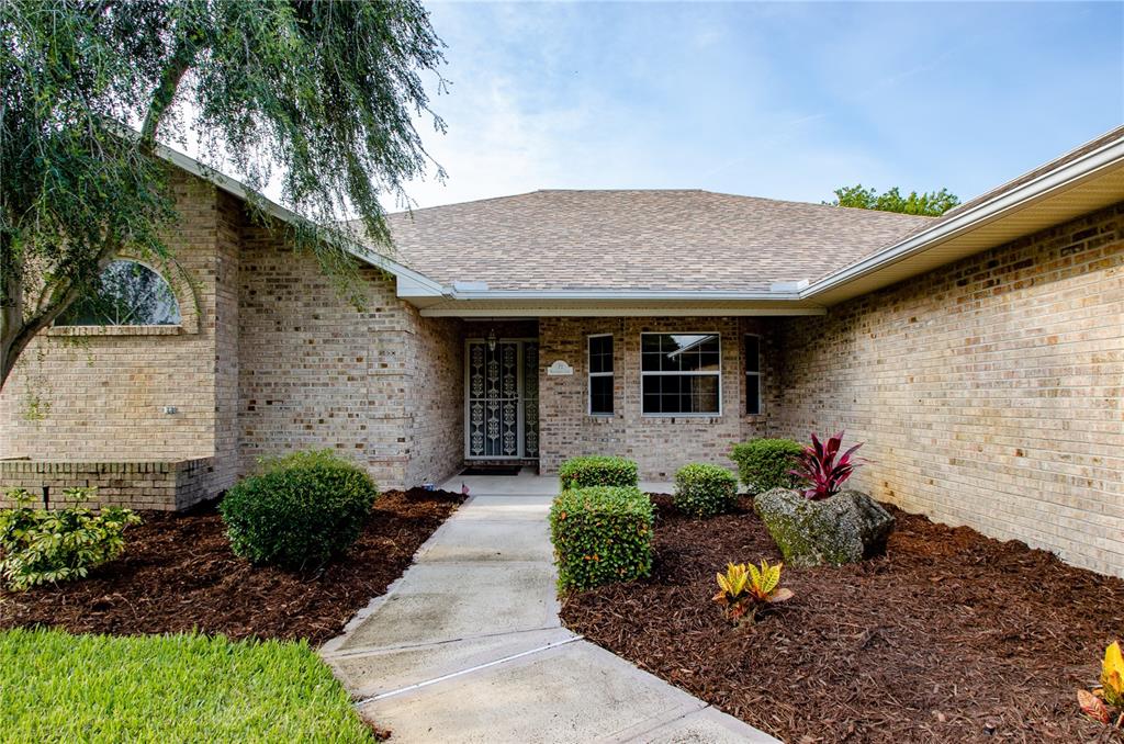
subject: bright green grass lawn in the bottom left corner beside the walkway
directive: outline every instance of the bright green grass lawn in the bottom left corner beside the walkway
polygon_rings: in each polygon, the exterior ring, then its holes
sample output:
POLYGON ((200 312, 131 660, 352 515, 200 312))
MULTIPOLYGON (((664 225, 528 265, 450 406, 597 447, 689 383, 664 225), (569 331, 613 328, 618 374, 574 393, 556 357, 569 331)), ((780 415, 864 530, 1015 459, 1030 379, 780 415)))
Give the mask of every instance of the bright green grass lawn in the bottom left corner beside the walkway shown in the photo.
POLYGON ((374 742, 307 643, 0 633, 0 740, 374 742))

